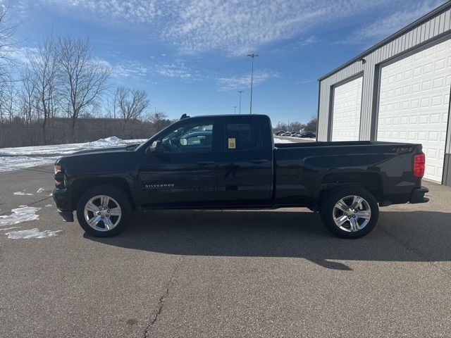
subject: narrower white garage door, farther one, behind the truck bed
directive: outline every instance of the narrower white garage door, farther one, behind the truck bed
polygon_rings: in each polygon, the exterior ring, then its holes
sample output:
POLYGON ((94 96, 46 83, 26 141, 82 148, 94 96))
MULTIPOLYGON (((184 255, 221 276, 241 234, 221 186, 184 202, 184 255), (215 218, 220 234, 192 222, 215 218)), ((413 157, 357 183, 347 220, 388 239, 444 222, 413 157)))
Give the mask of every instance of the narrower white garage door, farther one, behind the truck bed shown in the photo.
POLYGON ((332 141, 358 141, 363 77, 333 91, 332 141))

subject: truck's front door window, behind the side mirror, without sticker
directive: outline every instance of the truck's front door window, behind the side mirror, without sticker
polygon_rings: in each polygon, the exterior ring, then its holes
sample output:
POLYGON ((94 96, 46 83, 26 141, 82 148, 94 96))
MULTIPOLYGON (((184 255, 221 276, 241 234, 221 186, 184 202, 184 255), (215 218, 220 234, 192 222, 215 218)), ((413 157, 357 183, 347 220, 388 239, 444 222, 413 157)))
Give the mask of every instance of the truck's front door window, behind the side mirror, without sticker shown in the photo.
POLYGON ((190 123, 169 132, 161 140, 170 153, 206 153, 213 149, 213 124, 190 123))

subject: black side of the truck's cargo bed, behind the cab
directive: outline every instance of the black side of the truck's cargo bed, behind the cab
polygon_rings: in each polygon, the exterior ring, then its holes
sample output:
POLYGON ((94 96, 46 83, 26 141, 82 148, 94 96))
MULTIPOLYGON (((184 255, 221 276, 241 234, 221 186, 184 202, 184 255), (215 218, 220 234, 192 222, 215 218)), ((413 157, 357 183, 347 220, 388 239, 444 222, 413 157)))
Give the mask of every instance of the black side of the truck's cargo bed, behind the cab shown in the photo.
POLYGON ((396 142, 306 142, 275 144, 276 202, 318 199, 324 184, 371 182, 379 202, 406 203, 421 180, 412 173, 421 144, 396 142))

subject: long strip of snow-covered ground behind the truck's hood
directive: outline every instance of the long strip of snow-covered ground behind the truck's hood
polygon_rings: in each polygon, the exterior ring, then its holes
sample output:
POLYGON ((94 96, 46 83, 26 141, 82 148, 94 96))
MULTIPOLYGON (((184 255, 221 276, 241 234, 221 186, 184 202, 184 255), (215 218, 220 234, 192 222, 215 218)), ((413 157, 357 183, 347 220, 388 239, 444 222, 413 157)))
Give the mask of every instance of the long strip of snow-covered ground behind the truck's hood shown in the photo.
POLYGON ((37 165, 53 164, 58 158, 75 151, 126 146, 143 143, 146 139, 120 139, 116 136, 86 143, 51 144, 49 146, 20 146, 0 149, 0 172, 12 171, 37 165))

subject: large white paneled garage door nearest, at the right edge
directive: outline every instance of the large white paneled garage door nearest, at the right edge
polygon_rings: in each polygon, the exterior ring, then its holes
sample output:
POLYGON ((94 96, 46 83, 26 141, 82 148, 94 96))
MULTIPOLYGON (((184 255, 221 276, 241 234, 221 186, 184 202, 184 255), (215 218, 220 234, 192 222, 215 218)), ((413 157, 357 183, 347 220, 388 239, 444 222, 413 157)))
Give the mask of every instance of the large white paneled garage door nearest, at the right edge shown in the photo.
POLYGON ((425 178, 442 182, 450 102, 451 40, 382 68, 378 141, 416 142, 425 178))

